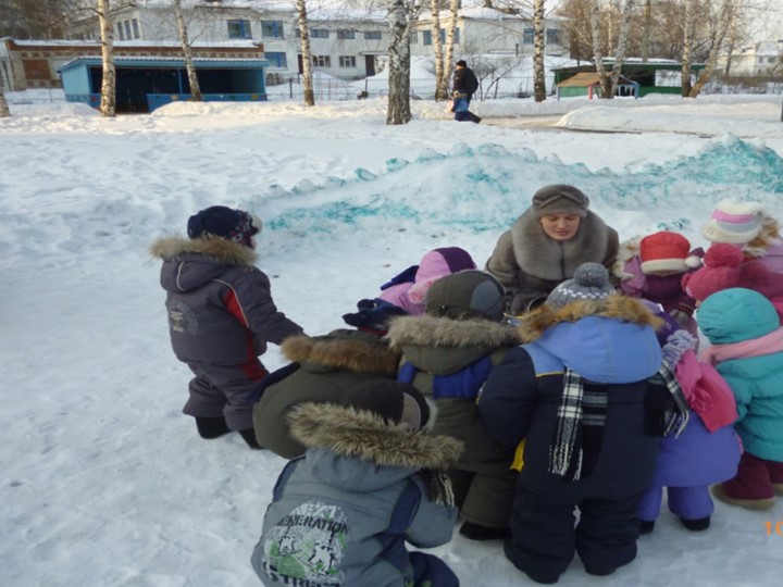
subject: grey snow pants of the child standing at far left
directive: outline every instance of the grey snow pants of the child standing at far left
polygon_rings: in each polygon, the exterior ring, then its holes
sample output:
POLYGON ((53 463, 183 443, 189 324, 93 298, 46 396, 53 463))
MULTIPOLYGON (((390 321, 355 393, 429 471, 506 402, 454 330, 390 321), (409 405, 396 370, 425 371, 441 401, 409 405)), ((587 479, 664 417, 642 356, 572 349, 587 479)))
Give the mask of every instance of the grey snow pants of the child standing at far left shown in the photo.
POLYGON ((252 428, 252 409, 259 400, 258 383, 266 376, 260 361, 244 365, 188 363, 196 375, 183 412, 194 417, 221 417, 232 430, 252 428))

